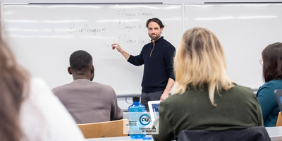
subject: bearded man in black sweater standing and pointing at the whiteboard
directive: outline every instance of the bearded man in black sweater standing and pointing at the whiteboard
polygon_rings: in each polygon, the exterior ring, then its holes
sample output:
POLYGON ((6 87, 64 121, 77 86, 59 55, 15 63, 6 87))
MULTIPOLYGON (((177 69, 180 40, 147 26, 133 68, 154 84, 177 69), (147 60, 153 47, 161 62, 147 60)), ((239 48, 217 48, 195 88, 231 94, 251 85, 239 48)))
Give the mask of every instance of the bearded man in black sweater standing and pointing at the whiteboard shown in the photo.
POLYGON ((121 49, 119 44, 112 44, 112 46, 133 65, 141 66, 144 64, 141 104, 149 111, 147 102, 166 99, 171 87, 173 87, 175 80, 173 58, 176 49, 164 37, 161 37, 161 32, 164 29, 161 20, 158 18, 149 19, 146 27, 152 42, 146 44, 139 55, 128 54, 121 49))

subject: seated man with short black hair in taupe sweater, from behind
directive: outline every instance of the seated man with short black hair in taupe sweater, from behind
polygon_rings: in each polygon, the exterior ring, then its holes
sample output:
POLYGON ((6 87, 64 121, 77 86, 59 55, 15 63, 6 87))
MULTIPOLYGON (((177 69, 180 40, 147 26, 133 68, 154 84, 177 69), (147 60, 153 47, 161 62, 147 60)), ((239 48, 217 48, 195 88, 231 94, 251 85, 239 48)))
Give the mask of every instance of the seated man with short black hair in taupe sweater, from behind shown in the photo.
POLYGON ((97 123, 123 118, 114 89, 109 85, 92 82, 94 66, 90 54, 82 50, 73 52, 68 73, 73 75, 73 82, 56 87, 53 92, 76 123, 97 123))

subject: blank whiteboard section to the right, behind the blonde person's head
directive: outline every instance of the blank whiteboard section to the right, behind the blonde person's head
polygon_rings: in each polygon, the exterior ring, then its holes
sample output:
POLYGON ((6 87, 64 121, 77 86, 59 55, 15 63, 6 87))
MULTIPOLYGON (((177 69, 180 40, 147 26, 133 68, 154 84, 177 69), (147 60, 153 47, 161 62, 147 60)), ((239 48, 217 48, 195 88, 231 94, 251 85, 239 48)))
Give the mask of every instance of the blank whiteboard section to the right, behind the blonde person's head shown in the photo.
POLYGON ((281 4, 187 4, 185 29, 205 27, 223 45, 228 76, 238 85, 263 85, 262 50, 282 42, 281 4))

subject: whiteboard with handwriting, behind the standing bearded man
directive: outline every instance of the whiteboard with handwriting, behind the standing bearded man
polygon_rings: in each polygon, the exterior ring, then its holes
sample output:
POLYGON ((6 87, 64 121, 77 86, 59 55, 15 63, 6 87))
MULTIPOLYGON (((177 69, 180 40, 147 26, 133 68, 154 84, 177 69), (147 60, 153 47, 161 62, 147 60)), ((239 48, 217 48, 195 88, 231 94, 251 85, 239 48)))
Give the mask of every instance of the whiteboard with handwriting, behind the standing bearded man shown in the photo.
POLYGON ((118 95, 140 94, 143 67, 109 45, 140 54, 150 42, 145 23, 155 17, 165 25, 162 36, 177 48, 183 33, 180 4, 5 4, 5 39, 20 64, 51 88, 73 81, 68 59, 82 49, 93 57, 93 81, 111 85, 118 95))

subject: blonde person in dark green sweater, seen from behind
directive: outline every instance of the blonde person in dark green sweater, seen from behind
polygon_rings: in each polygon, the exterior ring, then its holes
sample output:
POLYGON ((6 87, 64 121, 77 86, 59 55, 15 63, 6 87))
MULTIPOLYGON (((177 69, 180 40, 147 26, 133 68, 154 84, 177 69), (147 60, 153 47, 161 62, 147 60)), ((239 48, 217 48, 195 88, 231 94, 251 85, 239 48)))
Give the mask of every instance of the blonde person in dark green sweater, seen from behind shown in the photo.
POLYGON ((223 47, 213 32, 186 31, 174 64, 173 95, 159 105, 155 141, 177 140, 181 130, 227 130, 263 125, 259 102, 248 87, 226 75, 223 47))

